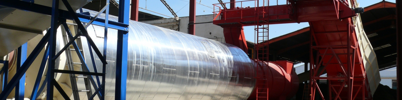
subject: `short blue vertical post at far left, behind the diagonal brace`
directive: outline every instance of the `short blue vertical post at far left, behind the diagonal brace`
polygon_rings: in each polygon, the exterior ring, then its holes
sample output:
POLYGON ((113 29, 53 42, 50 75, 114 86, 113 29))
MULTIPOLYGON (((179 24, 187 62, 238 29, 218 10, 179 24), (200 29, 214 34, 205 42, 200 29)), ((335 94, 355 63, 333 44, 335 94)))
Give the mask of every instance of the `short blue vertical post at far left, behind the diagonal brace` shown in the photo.
MULTIPOLYGON (((18 47, 17 50, 17 68, 19 70, 21 65, 27 60, 27 46, 28 43, 25 43, 18 47)), ((18 85, 15 86, 15 100, 24 100, 25 93, 25 73, 16 73, 16 74, 24 74, 23 77, 17 82, 18 85)))

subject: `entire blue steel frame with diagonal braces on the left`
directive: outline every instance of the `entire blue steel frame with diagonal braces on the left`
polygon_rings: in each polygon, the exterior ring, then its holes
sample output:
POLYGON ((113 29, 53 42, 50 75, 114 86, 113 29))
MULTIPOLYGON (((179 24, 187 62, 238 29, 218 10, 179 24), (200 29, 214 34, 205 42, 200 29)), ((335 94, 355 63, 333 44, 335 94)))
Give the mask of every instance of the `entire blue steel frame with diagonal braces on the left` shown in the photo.
MULTIPOLYGON (((109 0, 107 0, 107 1, 109 1, 109 0)), ((94 89, 96 90, 94 92, 94 95, 98 94, 99 98, 101 100, 104 100, 105 96, 103 94, 105 94, 105 72, 106 72, 106 64, 107 64, 105 52, 107 51, 106 48, 107 48, 108 28, 113 28, 113 29, 118 30, 117 55, 116 55, 117 56, 116 84, 121 84, 121 85, 116 85, 115 96, 116 96, 116 100, 125 100, 126 99, 126 97, 125 97, 126 96, 126 78, 127 78, 127 44, 128 44, 128 34, 127 33, 128 33, 128 24, 129 24, 129 12, 128 12, 129 11, 129 0, 120 0, 120 2, 119 2, 119 5, 120 5, 119 21, 118 22, 113 22, 113 21, 108 20, 109 8, 106 9, 106 18, 105 19, 96 18, 94 20, 94 22, 92 22, 92 24, 94 24, 94 25, 106 27, 105 28, 105 41, 104 41, 104 48, 103 48, 104 55, 100 54, 98 48, 96 47, 96 45, 94 44, 94 42, 92 41, 92 39, 90 38, 88 33, 86 32, 86 29, 84 28, 84 26, 81 23, 81 22, 88 23, 91 20, 91 18, 93 18, 93 17, 82 14, 82 13, 76 13, 75 11, 72 10, 72 8, 67 0, 62 0, 62 2, 64 3, 64 5, 66 5, 66 8, 68 9, 68 11, 57 9, 59 7, 59 0, 53 0, 52 7, 43 6, 43 5, 39 5, 39 4, 33 4, 30 2, 25 2, 25 1, 20 1, 20 0, 0 0, 0 6, 6 6, 6 7, 29 11, 29 12, 36 12, 39 14, 51 15, 50 30, 47 31, 47 34, 45 34, 45 36, 43 36, 43 38, 39 41, 38 45, 33 49, 33 52, 28 57, 26 57, 26 55, 27 55, 26 54, 26 51, 27 51, 26 44, 25 44, 25 48, 24 48, 24 46, 22 46, 22 48, 18 50, 18 51, 23 51, 23 52, 18 52, 18 53, 22 53, 23 55, 25 53, 25 57, 18 56, 18 60, 21 61, 21 63, 18 63, 18 65, 20 65, 21 67, 18 68, 18 70, 16 72, 17 74, 15 74, 12 77, 12 79, 10 80, 10 82, 8 82, 8 84, 7 84, 7 82, 3 81, 4 82, 2 84, 3 90, 0 94, 0 100, 6 100, 6 97, 8 96, 8 94, 10 94, 11 90, 14 87, 20 86, 20 88, 21 88, 21 83, 23 84, 23 86, 25 86, 25 77, 24 77, 25 72, 28 70, 29 66, 31 66, 31 64, 33 63, 35 58, 37 58, 37 56, 39 55, 41 50, 44 48, 46 43, 48 44, 45 49, 46 53, 43 55, 41 66, 39 67, 37 79, 34 84, 33 92, 31 94, 31 100, 36 99, 39 96, 38 92, 41 92, 43 90, 45 84, 48 84, 47 85, 47 90, 48 90, 47 98, 53 98, 53 86, 55 86, 56 89, 60 92, 60 94, 62 94, 62 96, 66 100, 70 100, 69 97, 64 92, 64 90, 62 90, 60 88, 59 84, 54 79, 55 73, 82 74, 82 75, 90 76, 89 78, 91 80, 91 83, 93 84, 92 86, 94 86, 94 89), (68 37, 70 38, 70 42, 67 45, 73 44, 74 48, 76 48, 76 52, 79 55, 81 62, 83 63, 83 67, 84 67, 83 71, 84 72, 54 69, 55 68, 55 59, 60 55, 61 52, 63 52, 66 49, 66 48, 64 48, 60 52, 58 52, 58 54, 56 54, 56 51, 55 51, 56 46, 55 45, 56 45, 57 28, 61 24, 63 24, 63 26, 66 27, 67 26, 65 23, 66 19, 75 20, 78 24, 79 31, 78 31, 78 34, 76 34, 76 36, 72 37, 71 33, 69 32, 70 30, 67 30, 68 37), (92 47, 94 49, 95 53, 97 54, 97 56, 99 56, 99 59, 103 63, 103 70, 102 70, 103 73, 98 73, 97 70, 95 70, 95 72, 89 72, 88 66, 86 66, 86 63, 83 60, 82 54, 81 54, 81 52, 79 52, 80 50, 78 49, 78 46, 74 42, 74 40, 76 38, 78 38, 78 36, 81 36, 81 35, 86 36, 86 38, 88 40, 88 46, 90 48, 92 47), (49 59, 47 59, 47 58, 49 58, 49 59), (47 60, 48 60, 48 66, 49 66, 48 71, 47 71, 47 76, 45 78, 45 81, 42 83, 42 86, 39 86, 40 80, 42 78, 41 76, 43 76, 42 73, 44 71, 45 63, 47 60), (96 85, 92 76, 96 76, 98 85, 96 85), (102 84, 100 84, 98 76, 102 76, 102 84), (17 86, 16 83, 18 83, 18 81, 19 81, 19 85, 17 86)), ((66 28, 66 29, 68 29, 68 28, 66 28)), ((90 53, 92 55, 92 49, 90 50, 90 53)), ((94 57, 91 56, 91 59, 94 60, 94 57)), ((6 63, 7 61, 3 61, 3 62, 6 63)), ((92 63, 94 63, 94 61, 92 61, 92 63)), ((7 64, 8 64, 8 62, 7 62, 7 64)), ((94 69, 96 69, 96 65, 94 65, 94 69)), ((3 80, 7 80, 8 65, 5 66, 1 70, 1 72, 4 72, 3 80)), ((20 93, 18 96, 18 97, 20 97, 19 99, 23 99, 24 98, 23 93, 24 93, 25 89, 17 89, 17 90, 18 90, 18 93, 20 93)), ((17 94, 17 92, 16 92, 16 94, 17 94)), ((90 97, 88 99, 92 100, 94 98, 94 95, 92 95, 92 97, 90 97)))

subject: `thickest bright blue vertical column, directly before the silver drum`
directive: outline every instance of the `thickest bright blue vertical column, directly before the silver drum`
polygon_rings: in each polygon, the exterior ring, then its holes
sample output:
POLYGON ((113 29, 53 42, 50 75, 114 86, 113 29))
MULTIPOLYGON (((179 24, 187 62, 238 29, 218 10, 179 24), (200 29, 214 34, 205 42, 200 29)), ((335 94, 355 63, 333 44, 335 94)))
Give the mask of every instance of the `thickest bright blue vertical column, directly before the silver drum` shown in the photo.
MULTIPOLYGON (((119 22, 129 24, 130 0, 119 2, 119 22)), ((128 30, 128 27, 125 29, 128 30)), ((117 33, 116 95, 115 100, 126 100, 128 32, 117 33)))

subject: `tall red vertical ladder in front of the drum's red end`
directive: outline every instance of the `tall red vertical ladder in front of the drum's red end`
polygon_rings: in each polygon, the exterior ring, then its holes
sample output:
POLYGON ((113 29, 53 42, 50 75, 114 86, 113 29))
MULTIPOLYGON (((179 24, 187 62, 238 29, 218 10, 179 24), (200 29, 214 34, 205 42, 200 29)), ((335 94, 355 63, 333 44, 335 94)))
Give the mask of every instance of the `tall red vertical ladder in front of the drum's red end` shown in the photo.
MULTIPOLYGON (((258 0, 257 0, 258 2, 258 0)), ((263 20, 260 22, 260 19, 268 17, 268 6, 269 3, 263 1, 263 9, 262 11, 259 11, 258 9, 256 10, 256 27, 255 27, 255 45, 254 45, 254 50, 256 52, 256 100, 268 100, 268 93, 269 93, 269 88, 268 88, 268 79, 267 79, 267 74, 268 74, 268 61, 269 61, 269 54, 268 54, 268 40, 269 40, 269 23, 268 20, 263 20), (265 4, 267 3, 267 5, 265 4), (267 42, 266 44, 260 44, 263 42, 267 42)), ((257 4, 259 5, 259 4, 257 4)))

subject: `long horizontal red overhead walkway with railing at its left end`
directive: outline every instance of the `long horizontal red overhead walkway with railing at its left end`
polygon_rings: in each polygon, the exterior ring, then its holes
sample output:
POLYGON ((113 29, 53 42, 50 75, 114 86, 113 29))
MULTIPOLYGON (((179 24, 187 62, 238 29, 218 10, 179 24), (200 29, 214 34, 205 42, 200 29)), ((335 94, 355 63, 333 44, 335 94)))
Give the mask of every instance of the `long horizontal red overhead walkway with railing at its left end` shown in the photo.
MULTIPOLYGON (((242 4, 242 2, 249 1, 241 1, 237 3, 242 4)), ((214 6, 217 5, 220 4, 214 4, 214 6)), ((351 8, 340 3, 338 0, 300 0, 300 2, 297 3, 291 2, 290 0, 285 5, 268 7, 269 14, 264 16, 259 15, 258 17, 260 17, 259 21, 269 20, 269 24, 338 20, 355 16, 354 11, 351 10, 351 8)), ((264 9, 264 7, 236 7, 216 11, 213 13, 216 15, 220 12, 221 16, 216 16, 220 18, 213 20, 213 24, 218 26, 255 26, 256 22, 254 17, 256 16, 256 10, 262 11, 261 9, 264 9)), ((260 22, 260 24, 263 23, 264 22, 260 22)))

